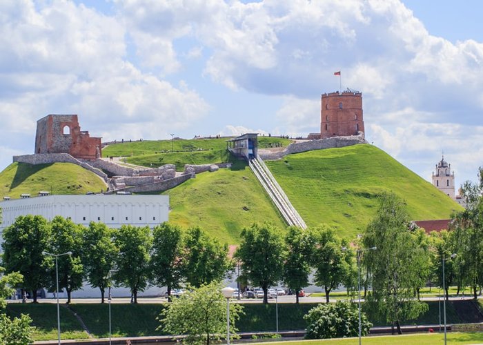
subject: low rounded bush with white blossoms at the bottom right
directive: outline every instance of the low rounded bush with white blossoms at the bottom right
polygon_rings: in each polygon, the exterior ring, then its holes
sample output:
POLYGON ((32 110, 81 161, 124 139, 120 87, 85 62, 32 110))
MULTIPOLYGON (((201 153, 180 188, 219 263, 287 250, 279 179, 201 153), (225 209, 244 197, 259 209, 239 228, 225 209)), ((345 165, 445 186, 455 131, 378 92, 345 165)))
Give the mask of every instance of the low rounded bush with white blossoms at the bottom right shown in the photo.
MULTIPOLYGON (((319 304, 304 319, 307 323, 306 339, 329 339, 357 337, 359 334, 359 311, 351 302, 319 304)), ((367 335, 373 324, 366 313, 361 313, 361 334, 367 335)))

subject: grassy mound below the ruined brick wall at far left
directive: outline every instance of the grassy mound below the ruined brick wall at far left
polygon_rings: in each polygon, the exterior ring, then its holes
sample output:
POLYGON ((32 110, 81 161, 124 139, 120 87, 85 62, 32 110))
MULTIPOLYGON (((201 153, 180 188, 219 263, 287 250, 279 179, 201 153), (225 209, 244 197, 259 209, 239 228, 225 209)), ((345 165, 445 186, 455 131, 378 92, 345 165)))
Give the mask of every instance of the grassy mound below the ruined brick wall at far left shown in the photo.
POLYGON ((99 193, 106 190, 106 184, 95 173, 70 163, 12 163, 0 172, 0 197, 18 199, 22 193, 35 196, 40 190, 52 194, 99 193))

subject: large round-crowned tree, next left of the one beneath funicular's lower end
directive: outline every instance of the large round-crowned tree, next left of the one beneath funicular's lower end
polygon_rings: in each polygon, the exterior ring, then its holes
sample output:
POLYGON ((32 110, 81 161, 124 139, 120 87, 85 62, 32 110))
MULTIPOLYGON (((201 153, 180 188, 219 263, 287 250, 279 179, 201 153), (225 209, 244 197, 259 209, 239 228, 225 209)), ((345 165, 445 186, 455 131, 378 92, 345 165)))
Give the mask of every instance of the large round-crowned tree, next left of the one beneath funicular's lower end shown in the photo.
POLYGON ((235 257, 243 263, 243 275, 264 290, 267 304, 268 287, 277 284, 284 271, 285 248, 280 230, 268 223, 244 228, 235 257))

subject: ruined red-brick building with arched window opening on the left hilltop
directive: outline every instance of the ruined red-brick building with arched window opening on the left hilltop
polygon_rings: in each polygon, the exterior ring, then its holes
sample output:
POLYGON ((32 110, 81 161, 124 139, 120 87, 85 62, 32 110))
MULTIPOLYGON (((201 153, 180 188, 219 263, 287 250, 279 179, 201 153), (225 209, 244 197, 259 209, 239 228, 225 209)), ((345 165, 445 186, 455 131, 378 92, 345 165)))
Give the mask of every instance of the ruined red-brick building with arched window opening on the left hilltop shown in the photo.
POLYGON ((77 115, 47 115, 37 121, 35 153, 68 153, 79 159, 101 157, 101 138, 81 131, 77 115))

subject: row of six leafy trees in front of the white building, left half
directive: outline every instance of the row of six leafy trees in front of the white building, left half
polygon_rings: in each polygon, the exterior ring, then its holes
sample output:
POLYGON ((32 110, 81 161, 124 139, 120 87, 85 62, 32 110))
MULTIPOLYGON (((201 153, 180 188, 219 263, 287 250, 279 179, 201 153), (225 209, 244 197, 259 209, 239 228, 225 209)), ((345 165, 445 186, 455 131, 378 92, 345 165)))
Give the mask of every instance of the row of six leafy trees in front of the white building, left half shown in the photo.
POLYGON ((92 222, 87 228, 70 219, 41 216, 18 217, 3 232, 3 266, 8 273, 23 275, 20 287, 31 291, 54 290, 55 258, 58 259, 59 288, 68 303, 72 291, 85 281, 101 290, 114 284, 130 288, 133 302, 150 284, 177 288, 180 284, 200 286, 223 279, 233 267, 228 246, 209 237, 200 228, 182 230, 168 223, 148 227, 124 225, 111 229, 92 222))

